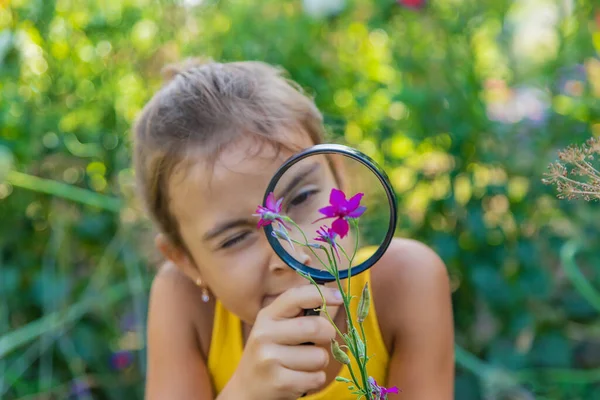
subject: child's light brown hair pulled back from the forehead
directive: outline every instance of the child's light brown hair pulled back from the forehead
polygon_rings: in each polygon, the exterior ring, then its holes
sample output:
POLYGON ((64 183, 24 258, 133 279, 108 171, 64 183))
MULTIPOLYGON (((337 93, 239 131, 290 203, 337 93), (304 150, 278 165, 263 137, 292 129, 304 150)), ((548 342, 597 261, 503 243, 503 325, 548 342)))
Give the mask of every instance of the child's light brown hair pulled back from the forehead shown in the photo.
POLYGON ((289 148, 281 132, 301 130, 313 144, 324 140, 323 118, 313 100, 262 62, 186 60, 163 70, 166 84, 134 127, 134 168, 144 206, 173 244, 185 249, 169 211, 168 179, 192 153, 214 160, 228 144, 250 135, 289 148))

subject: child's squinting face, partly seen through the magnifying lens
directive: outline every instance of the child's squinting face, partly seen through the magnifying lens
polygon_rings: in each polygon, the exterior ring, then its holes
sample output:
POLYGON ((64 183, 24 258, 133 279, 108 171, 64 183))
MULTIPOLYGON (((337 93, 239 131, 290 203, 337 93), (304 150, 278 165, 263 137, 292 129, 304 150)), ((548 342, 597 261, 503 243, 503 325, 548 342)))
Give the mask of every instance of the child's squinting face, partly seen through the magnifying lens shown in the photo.
MULTIPOLYGON (((290 135, 290 140, 291 147, 312 145, 307 135, 290 135)), ((264 231, 257 229, 258 218, 252 216, 271 177, 291 155, 286 150, 277 155, 268 145, 241 139, 222 152, 213 168, 199 160, 176 172, 170 182, 170 210, 191 253, 189 264, 197 267, 203 282, 227 309, 250 324, 277 295, 310 284, 279 259, 264 231)), ((319 218, 318 209, 328 204, 336 181, 324 157, 309 157, 297 166, 294 171, 305 173, 294 191, 277 193, 276 188, 275 196, 293 200, 283 213, 291 215, 304 207, 303 213, 310 210, 306 221, 312 222, 319 218)), ((284 175, 278 188, 294 180, 294 171, 284 175)), ((314 238, 319 223, 303 225, 309 240, 314 238)), ((309 250, 294 247, 297 259, 318 267, 309 250)), ((186 273, 195 279, 198 273, 190 269, 186 273)))

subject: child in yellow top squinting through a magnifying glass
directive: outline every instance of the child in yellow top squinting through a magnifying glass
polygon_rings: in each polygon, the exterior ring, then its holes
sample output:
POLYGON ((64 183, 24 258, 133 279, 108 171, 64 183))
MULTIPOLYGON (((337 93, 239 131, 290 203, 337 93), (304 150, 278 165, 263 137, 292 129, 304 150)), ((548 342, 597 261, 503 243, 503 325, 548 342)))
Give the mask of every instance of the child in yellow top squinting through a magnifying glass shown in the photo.
MULTIPOLYGON (((167 260, 150 295, 146 397, 355 399, 335 381, 348 373, 330 356, 335 330, 302 314, 322 304, 318 291, 281 262, 252 216, 283 161, 323 141, 319 111, 263 63, 192 61, 167 72, 135 127, 138 185, 167 260)), ((337 173, 314 179, 335 186, 337 173)), ((357 296, 365 282, 372 289, 369 373, 398 386, 398 399, 451 399, 452 309, 439 257, 394 239, 352 279, 357 296)), ((339 293, 324 294, 344 332, 339 293)))

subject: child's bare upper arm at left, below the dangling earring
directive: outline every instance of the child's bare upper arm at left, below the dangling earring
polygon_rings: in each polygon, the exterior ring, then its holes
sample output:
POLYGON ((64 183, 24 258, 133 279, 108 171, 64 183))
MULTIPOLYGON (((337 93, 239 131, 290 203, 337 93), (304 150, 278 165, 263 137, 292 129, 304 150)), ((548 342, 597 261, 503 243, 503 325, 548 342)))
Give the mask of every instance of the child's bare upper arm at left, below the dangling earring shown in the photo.
POLYGON ((198 315, 197 290, 173 268, 158 273, 150 293, 145 398, 212 400, 209 373, 192 319, 198 315))

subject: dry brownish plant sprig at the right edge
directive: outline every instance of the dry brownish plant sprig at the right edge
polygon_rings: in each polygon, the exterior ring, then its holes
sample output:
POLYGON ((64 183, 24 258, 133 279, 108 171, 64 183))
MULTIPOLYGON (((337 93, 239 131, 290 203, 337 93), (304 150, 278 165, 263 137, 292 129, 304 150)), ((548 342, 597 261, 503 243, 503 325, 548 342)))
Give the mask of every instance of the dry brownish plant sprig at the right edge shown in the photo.
POLYGON ((600 200, 600 171, 593 165, 599 154, 598 138, 580 146, 570 145, 558 152, 558 161, 548 166, 542 182, 556 185, 559 199, 600 200))

